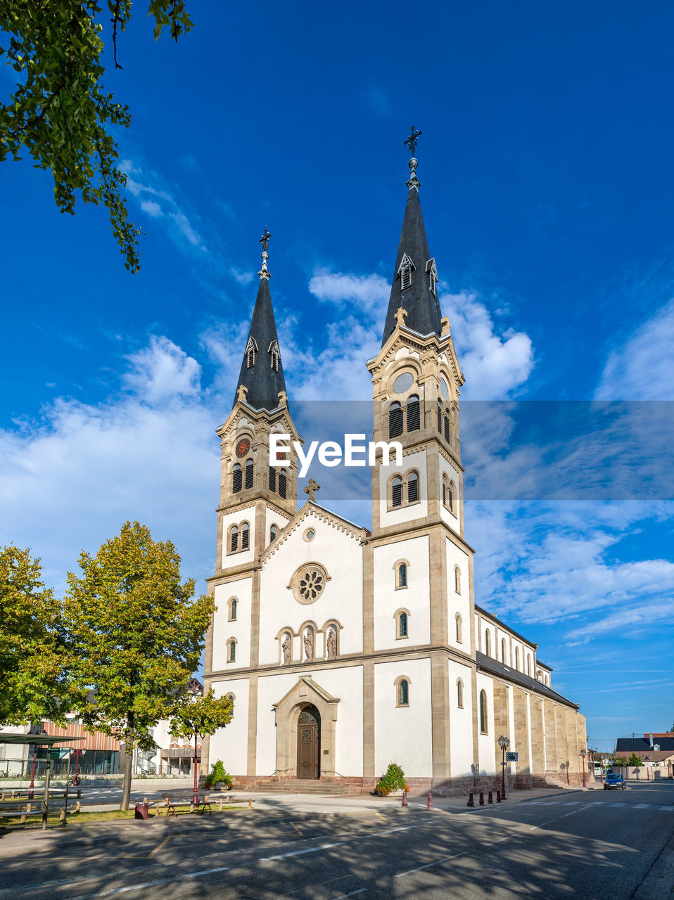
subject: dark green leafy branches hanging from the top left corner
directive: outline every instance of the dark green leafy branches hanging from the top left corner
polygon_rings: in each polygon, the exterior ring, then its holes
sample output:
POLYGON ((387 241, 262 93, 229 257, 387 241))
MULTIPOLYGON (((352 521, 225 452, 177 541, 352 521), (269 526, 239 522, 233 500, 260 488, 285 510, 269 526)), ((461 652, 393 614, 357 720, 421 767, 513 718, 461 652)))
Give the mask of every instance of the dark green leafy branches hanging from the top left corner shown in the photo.
MULTIPOLYGON (((107 207, 124 265, 137 272, 137 229, 123 196, 126 175, 111 126, 128 128, 131 113, 103 84, 104 25, 111 29, 115 68, 117 38, 132 15, 132 0, 0 0, 0 47, 18 73, 8 103, 0 105, 0 161, 27 151, 37 168, 50 169, 61 212, 84 202, 107 207), (108 18, 108 17, 111 18, 108 18)), ((184 0, 150 0, 154 37, 168 29, 178 40, 193 23, 184 0)))

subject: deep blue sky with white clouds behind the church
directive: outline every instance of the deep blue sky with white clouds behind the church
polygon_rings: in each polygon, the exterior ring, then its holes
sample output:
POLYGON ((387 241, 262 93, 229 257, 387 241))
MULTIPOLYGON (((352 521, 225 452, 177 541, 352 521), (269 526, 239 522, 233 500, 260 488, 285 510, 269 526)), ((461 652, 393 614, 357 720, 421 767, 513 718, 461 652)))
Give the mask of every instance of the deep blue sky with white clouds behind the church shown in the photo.
MULTIPOLYGON (((412 122, 463 400, 674 400, 669 4, 189 8, 176 45, 138 7, 106 76, 133 113, 139 275, 105 211, 63 216, 49 175, 0 166, 0 542, 31 545, 60 587, 140 518, 186 574, 212 572, 214 429, 260 233, 291 398, 367 400, 412 122)), ((540 473, 547 445, 497 409, 490 437, 464 418, 464 462, 540 473)), ((559 464, 582 442, 560 436, 559 464)), ((669 486, 467 502, 478 603, 540 644, 591 745, 674 719, 669 486)), ((369 525, 368 506, 339 509, 369 525)))

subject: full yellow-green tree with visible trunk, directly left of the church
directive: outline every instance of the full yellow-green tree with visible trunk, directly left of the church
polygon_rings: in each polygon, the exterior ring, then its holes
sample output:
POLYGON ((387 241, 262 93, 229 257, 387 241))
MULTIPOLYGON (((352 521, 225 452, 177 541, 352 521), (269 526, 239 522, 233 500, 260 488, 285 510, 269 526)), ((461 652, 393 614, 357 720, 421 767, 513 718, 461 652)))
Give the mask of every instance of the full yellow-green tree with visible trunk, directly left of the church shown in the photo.
POLYGON ((68 572, 63 603, 73 708, 87 727, 123 742, 128 809, 133 747, 155 746, 151 729, 196 670, 214 602, 193 599, 174 545, 152 540, 139 522, 126 522, 96 556, 83 551, 79 566, 81 575, 68 572))

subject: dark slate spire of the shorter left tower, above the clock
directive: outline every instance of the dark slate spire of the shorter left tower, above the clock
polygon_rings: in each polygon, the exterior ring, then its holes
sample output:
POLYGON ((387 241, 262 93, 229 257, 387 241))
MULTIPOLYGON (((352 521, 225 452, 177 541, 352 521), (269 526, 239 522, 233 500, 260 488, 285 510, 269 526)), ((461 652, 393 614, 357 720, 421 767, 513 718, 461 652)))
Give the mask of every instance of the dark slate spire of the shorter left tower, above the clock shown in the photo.
POLYGON ((260 240, 263 247, 262 268, 258 273, 260 286, 250 320, 250 331, 243 351, 241 373, 234 396, 234 403, 242 399, 256 410, 276 410, 283 403, 278 399, 278 393, 286 391, 286 380, 283 377, 283 364, 281 363, 276 322, 269 291, 267 245, 270 237, 271 235, 265 229, 260 240), (246 390, 240 397, 241 385, 246 390))

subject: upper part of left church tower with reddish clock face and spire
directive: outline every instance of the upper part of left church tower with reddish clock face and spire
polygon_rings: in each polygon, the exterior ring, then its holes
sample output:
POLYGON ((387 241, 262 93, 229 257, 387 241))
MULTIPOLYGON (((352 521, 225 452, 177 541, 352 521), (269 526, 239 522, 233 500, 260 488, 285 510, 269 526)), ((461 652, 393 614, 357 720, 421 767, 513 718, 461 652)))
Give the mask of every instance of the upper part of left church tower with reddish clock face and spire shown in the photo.
POLYGON ((252 566, 297 509, 297 461, 271 465, 269 435, 299 440, 288 410, 286 382, 269 291, 268 245, 261 238, 260 284, 241 360, 232 412, 221 440, 216 575, 252 566))

